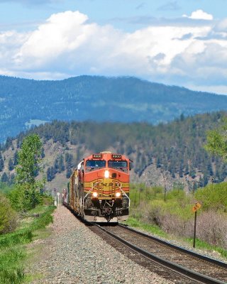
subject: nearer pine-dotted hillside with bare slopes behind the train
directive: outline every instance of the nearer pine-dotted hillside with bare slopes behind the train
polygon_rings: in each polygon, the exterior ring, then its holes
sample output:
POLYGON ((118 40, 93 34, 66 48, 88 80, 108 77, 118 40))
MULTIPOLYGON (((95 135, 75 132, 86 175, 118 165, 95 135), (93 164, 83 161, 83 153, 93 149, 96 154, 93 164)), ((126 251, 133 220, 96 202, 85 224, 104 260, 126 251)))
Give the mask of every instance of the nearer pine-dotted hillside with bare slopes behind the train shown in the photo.
MULTIPOLYGON (((226 178, 227 167, 219 158, 204 150, 206 131, 216 129, 223 122, 225 112, 199 114, 185 118, 183 115, 168 124, 153 126, 148 123, 96 123, 53 121, 35 127, 43 140, 43 165, 48 187, 53 181, 67 182, 72 169, 91 153, 112 151, 126 154, 133 163, 132 180, 148 185, 167 187, 174 183, 192 187, 207 182, 221 182, 226 178)), ((25 133, 8 138, 1 146, 1 181, 10 181, 16 156, 25 133)), ((61 184, 61 186, 63 186, 61 184)))

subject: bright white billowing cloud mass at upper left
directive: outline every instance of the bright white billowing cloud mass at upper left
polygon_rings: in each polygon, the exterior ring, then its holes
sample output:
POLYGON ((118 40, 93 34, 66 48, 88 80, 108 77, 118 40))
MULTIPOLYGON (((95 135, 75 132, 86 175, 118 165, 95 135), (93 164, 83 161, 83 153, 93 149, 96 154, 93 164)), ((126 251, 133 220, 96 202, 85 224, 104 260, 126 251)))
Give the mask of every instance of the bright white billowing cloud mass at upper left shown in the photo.
POLYGON ((16 55, 16 62, 33 57, 43 64, 47 59, 57 58, 64 51, 77 48, 86 37, 86 26, 83 26, 86 21, 87 16, 78 11, 53 14, 31 33, 16 55))

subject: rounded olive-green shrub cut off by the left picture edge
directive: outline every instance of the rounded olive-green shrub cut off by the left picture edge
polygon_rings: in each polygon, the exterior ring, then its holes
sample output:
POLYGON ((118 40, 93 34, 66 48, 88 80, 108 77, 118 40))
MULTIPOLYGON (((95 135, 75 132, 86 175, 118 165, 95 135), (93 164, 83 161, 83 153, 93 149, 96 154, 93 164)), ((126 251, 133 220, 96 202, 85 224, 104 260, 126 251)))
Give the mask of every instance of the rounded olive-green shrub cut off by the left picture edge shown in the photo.
POLYGON ((0 194, 0 234, 16 229, 16 212, 11 208, 9 200, 0 194))

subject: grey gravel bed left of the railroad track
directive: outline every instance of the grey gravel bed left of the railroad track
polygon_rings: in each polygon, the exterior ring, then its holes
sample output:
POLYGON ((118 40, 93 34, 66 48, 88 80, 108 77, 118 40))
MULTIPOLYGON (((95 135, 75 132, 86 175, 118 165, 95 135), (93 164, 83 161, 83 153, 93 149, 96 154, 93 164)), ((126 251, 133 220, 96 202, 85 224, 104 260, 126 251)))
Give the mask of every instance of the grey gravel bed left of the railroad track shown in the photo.
POLYGON ((43 251, 30 268, 34 275, 42 275, 33 284, 172 283, 106 244, 63 206, 55 210, 52 234, 45 239, 43 251))

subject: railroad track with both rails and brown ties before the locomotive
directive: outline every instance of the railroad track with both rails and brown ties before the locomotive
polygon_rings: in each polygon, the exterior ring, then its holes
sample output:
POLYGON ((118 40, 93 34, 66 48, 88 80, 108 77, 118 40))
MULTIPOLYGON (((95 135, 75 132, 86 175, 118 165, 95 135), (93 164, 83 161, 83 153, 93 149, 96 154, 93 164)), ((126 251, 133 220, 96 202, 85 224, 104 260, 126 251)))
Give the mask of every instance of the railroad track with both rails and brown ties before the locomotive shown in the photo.
POLYGON ((126 226, 99 226, 89 229, 108 244, 150 271, 176 284, 227 283, 227 264, 201 256, 126 226))

